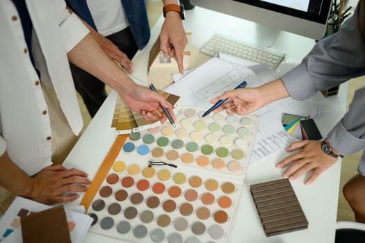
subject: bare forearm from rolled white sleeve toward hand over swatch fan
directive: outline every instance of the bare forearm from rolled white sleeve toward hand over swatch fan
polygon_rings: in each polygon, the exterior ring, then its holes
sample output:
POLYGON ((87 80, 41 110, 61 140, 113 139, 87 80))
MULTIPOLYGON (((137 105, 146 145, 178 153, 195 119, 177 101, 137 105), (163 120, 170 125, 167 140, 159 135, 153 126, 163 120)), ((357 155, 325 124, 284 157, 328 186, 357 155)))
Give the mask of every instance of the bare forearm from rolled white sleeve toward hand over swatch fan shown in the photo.
POLYGON ((127 92, 136 85, 106 56, 90 34, 67 53, 67 56, 74 65, 96 76, 119 94, 127 92))

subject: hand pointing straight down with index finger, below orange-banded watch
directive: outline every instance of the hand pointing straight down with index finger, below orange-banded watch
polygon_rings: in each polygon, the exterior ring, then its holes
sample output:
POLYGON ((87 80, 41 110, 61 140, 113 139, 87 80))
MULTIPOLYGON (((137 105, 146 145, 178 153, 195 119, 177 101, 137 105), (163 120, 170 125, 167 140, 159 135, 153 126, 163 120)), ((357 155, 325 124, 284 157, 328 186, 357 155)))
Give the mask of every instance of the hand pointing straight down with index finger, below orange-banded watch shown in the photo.
POLYGON ((178 12, 169 11, 166 13, 160 35, 161 46, 164 57, 175 57, 180 74, 184 74, 184 49, 188 43, 186 33, 178 12))

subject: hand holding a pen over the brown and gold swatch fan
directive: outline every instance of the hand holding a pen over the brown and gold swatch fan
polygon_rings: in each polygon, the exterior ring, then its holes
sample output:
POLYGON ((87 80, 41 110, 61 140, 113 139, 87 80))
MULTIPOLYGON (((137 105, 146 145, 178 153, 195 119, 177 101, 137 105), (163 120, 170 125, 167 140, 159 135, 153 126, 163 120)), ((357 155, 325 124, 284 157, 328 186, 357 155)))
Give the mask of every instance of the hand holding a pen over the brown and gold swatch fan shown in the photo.
POLYGON ((172 119, 175 120, 172 105, 166 101, 161 94, 158 94, 147 87, 133 85, 133 87, 129 87, 129 90, 120 94, 120 96, 131 110, 143 115, 149 123, 158 120, 161 120, 161 123, 166 121, 167 117, 161 106, 166 108, 172 119))

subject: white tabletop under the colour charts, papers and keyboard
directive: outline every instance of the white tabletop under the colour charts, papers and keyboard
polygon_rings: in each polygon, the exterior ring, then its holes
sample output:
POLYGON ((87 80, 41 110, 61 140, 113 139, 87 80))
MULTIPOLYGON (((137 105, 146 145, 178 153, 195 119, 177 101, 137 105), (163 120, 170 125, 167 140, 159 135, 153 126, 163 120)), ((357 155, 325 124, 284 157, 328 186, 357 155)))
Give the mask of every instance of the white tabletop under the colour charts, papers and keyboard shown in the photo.
MULTIPOLYGON (((145 50, 133 59, 135 64, 133 76, 142 81, 147 81, 149 49, 159 35, 162 22, 163 18, 161 17, 152 30, 149 44, 145 50)), ((255 24, 252 22, 198 7, 186 11, 186 21, 184 21, 186 31, 193 33, 191 41, 196 47, 200 47, 209 40, 213 33, 232 35, 236 39, 254 42, 254 35, 252 34, 254 33, 254 26, 255 24)), ((291 62, 292 60, 301 60, 313 45, 314 40, 282 32, 273 48, 286 53, 286 60, 284 62, 287 60, 291 62)), ((311 100, 323 112, 323 117, 316 120, 322 135, 326 135, 343 116, 346 109, 346 94, 347 85, 341 85, 337 96, 324 98, 322 94, 318 93, 311 100)), ((112 92, 65 160, 65 167, 82 169, 89 174, 90 178, 95 176, 115 140, 115 132, 110 127, 115 99, 116 94, 112 92)), ((301 176, 297 180, 292 181, 295 194, 298 196, 298 200, 309 221, 308 229, 271 237, 266 237, 264 234, 257 210, 250 195, 249 185, 281 178, 280 175, 283 170, 276 169, 275 164, 286 156, 288 156, 288 153, 285 151, 277 151, 277 153, 248 169, 236 221, 232 224, 230 242, 334 242, 341 169, 340 162, 337 162, 333 167, 325 171, 312 185, 306 186, 303 184, 307 176, 301 176)), ((70 204, 78 204, 82 196, 81 194, 78 201, 70 204)), ((84 242, 112 243, 121 241, 111 237, 88 233, 84 242)))

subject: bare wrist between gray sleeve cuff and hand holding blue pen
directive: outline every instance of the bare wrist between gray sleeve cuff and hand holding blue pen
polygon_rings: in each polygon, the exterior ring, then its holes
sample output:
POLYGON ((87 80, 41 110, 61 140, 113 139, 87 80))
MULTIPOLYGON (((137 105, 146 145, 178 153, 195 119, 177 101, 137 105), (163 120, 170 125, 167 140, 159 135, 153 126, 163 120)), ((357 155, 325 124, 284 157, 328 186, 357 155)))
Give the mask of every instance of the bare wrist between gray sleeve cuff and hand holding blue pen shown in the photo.
POLYGON ((289 97, 284 83, 279 78, 258 87, 258 90, 263 99, 263 105, 289 97))

